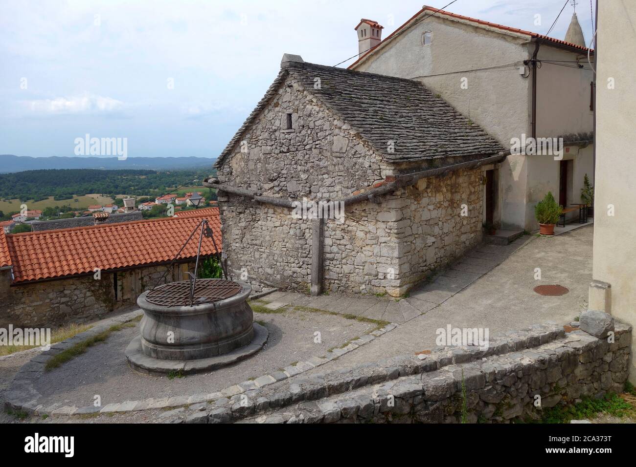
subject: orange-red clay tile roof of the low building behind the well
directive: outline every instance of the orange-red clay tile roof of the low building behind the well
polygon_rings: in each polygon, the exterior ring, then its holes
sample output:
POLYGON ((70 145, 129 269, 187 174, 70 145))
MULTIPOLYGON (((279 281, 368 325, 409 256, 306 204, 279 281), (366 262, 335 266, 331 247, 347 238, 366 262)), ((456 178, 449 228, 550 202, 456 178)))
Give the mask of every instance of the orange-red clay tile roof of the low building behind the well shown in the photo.
MULTIPOLYGON (((216 213, 120 224, 74 227, 0 236, 0 266, 13 266, 13 283, 61 278, 74 274, 146 266, 174 259, 188 236, 205 217, 221 248, 221 222, 216 213), (3 243, 4 241, 4 243, 3 243), (8 252, 8 254, 7 254, 8 252)), ((206 210, 207 211, 207 210, 206 210)), ((197 255, 198 241, 190 240, 179 259, 197 255)), ((212 240, 203 239, 201 252, 214 253, 212 240)))

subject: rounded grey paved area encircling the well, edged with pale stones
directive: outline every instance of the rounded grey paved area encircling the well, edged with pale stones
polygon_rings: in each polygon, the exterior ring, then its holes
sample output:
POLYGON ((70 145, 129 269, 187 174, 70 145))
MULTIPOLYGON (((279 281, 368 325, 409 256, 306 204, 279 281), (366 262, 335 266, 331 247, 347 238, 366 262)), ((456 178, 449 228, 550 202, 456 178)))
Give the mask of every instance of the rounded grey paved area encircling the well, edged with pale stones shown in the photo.
MULTIPOLYGON (((101 331, 115 323, 130 321, 141 313, 140 310, 118 316, 103 321, 96 328, 101 331)), ((52 350, 22 366, 8 388, 5 407, 34 416, 73 416, 140 412, 213 402, 315 369, 368 345, 397 327, 385 324, 378 328, 375 323, 293 309, 273 315, 254 313, 254 318, 270 330, 266 346, 249 360, 209 374, 170 378, 146 376, 129 369, 123 348, 139 334, 138 325, 114 332, 85 354, 64 363, 59 369, 46 372, 45 363, 57 350, 83 342, 94 334, 93 330, 83 332, 54 344, 52 350), (315 330, 321 331, 321 342, 315 342, 315 330), (330 348, 334 345, 340 347, 330 348), (102 405, 99 407, 90 405, 94 395, 100 396, 102 405)))

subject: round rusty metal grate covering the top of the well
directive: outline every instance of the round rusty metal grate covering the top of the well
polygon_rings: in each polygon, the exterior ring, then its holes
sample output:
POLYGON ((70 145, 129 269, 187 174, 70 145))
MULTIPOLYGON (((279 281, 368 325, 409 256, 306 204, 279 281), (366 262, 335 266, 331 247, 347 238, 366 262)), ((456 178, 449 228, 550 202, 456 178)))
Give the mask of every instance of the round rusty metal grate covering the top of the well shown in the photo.
MULTIPOLYGON (((159 306, 190 306, 190 281, 172 282, 153 288, 146 300, 159 306)), ((229 299, 238 294, 241 286, 225 279, 197 279, 195 283, 193 305, 203 305, 229 299)))

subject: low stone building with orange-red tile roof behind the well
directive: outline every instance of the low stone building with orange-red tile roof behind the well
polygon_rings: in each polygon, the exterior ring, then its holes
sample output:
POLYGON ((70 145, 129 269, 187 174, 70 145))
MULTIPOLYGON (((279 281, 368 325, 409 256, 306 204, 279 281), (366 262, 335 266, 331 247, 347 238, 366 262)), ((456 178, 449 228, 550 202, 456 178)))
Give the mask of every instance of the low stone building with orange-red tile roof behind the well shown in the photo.
MULTIPOLYGON (((95 320, 135 306, 148 288, 188 280, 198 241, 177 254, 202 219, 209 221, 220 249, 218 208, 167 219, 21 234, 0 231, 0 327, 95 320)), ((210 238, 204 237, 201 248, 202 257, 216 252, 210 238)))

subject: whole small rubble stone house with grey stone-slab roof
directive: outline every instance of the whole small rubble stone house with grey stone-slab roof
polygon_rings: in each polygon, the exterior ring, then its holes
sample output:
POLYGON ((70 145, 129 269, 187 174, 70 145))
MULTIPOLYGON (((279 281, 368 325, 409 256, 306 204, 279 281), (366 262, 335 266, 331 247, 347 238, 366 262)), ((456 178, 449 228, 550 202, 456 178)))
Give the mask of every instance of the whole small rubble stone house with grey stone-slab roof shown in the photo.
POLYGON ((505 157, 417 81, 285 55, 204 185, 228 269, 254 287, 399 296, 481 241, 505 157))

